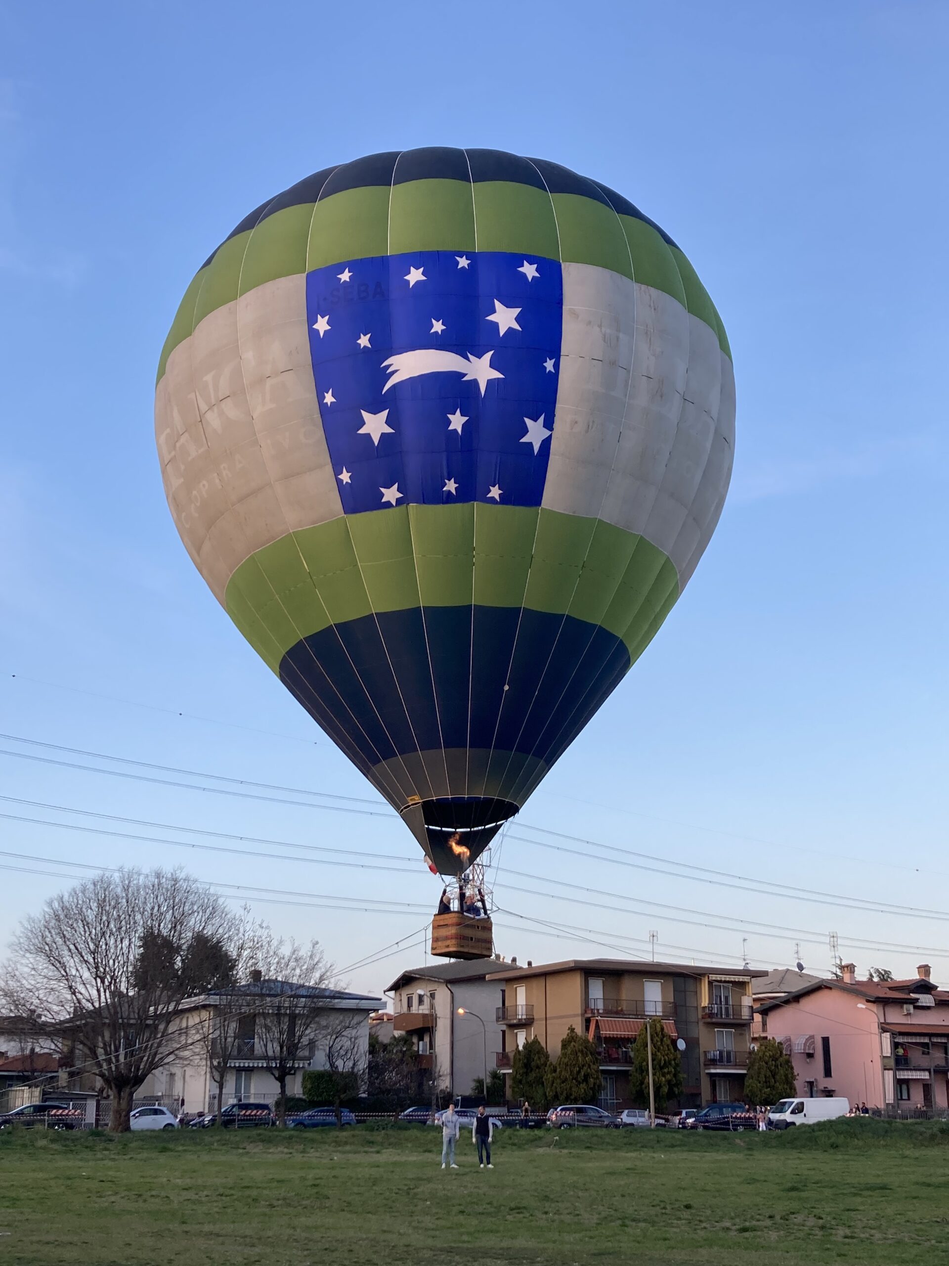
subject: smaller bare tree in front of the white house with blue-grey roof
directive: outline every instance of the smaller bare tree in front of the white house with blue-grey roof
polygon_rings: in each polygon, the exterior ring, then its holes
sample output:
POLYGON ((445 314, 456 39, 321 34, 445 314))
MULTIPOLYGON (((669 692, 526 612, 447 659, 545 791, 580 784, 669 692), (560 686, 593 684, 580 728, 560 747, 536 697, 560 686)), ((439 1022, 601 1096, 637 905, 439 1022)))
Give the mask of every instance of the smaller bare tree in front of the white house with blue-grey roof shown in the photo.
POLYGON ((240 986, 257 1008, 254 1053, 280 1086, 277 1120, 286 1120, 287 1081, 313 1058, 323 1033, 328 994, 334 989, 333 966, 316 941, 299 944, 262 929, 256 946, 259 974, 240 986))

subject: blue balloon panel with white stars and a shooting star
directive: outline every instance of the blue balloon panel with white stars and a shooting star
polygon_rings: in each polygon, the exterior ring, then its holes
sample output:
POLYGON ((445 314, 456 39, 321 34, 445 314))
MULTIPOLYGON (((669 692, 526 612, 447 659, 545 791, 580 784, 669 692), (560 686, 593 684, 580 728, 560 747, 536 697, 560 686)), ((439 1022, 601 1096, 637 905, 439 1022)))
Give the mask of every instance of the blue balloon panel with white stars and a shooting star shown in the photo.
POLYGON ((323 429, 347 514, 540 505, 561 368, 561 265, 377 256, 306 276, 323 429))

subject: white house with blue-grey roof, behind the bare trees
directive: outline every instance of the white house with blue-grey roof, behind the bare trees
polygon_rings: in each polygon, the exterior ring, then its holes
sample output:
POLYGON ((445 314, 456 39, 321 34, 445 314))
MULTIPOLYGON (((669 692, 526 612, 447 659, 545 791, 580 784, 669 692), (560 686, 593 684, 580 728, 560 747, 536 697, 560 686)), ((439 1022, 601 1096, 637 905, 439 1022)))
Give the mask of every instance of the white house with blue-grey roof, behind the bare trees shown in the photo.
POLYGON ((181 1009, 178 1025, 183 1029, 181 1051, 146 1081, 138 1093, 142 1100, 161 1100, 166 1106, 182 1106, 186 1113, 214 1112, 218 1087, 211 1077, 211 1060, 219 1055, 215 1039, 216 1015, 221 1000, 228 1003, 234 995, 245 998, 245 1014, 240 1017, 235 1051, 228 1061, 223 1103, 238 1100, 264 1100, 273 1103, 280 1086, 268 1069, 263 1050, 262 1015, 278 1005, 287 991, 305 991, 315 995, 324 1019, 309 1025, 314 1037, 301 1044, 295 1060, 292 1076, 287 1081, 287 1094, 300 1095, 301 1079, 307 1069, 328 1066, 326 1043, 333 1032, 345 1027, 349 1034, 349 1062, 364 1072, 369 1043, 369 1013, 378 1009, 381 999, 364 994, 350 994, 339 989, 314 989, 280 980, 251 980, 232 990, 211 990, 189 999, 181 1009))

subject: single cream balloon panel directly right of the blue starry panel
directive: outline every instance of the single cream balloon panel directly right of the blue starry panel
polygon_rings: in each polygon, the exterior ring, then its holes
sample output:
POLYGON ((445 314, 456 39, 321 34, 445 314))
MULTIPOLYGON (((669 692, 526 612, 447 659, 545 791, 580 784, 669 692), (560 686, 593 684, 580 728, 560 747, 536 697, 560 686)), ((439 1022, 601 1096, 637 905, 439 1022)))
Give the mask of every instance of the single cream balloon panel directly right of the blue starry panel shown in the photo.
POLYGON ((626 277, 563 265, 559 386, 543 499, 550 510, 600 511, 629 395, 635 309, 626 277))

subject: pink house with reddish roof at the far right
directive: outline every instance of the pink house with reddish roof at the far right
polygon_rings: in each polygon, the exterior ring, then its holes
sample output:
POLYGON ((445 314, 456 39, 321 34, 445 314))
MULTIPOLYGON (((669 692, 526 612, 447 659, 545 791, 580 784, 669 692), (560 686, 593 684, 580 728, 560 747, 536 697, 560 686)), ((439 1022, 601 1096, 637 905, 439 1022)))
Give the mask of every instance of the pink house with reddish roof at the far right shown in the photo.
POLYGON ((791 1056, 800 1095, 843 1095, 910 1114, 949 1106, 949 991, 914 980, 817 980, 759 1005, 763 1036, 791 1056))

